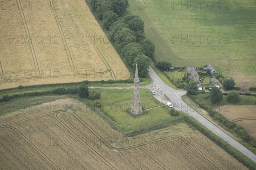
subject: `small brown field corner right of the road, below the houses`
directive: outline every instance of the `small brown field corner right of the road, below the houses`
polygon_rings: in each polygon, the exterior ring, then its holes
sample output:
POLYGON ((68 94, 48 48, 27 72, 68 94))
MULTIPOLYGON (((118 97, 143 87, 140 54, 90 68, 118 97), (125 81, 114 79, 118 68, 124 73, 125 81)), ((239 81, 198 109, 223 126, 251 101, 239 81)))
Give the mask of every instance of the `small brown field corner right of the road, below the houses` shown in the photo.
POLYGON ((217 108, 227 119, 241 125, 256 138, 256 106, 255 105, 224 105, 217 108))

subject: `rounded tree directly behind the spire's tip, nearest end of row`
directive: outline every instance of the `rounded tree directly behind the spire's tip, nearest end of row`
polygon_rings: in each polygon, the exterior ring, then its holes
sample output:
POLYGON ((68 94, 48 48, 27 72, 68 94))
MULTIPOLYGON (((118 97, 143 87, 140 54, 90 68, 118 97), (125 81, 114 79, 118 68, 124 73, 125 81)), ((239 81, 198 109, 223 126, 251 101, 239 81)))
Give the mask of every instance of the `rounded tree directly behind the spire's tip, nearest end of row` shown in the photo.
POLYGON ((138 73, 140 77, 147 77, 148 67, 150 65, 151 59, 145 54, 137 55, 134 59, 133 68, 135 73, 136 62, 138 63, 138 73))

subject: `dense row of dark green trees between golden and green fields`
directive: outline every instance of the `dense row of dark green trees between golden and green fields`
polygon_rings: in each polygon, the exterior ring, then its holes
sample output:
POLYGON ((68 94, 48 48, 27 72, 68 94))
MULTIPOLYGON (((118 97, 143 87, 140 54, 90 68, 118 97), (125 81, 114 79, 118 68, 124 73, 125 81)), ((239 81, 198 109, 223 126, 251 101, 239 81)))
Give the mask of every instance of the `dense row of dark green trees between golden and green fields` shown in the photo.
POLYGON ((140 77, 148 75, 155 45, 145 39, 144 22, 137 15, 125 15, 128 0, 90 0, 87 2, 105 28, 116 51, 140 77))

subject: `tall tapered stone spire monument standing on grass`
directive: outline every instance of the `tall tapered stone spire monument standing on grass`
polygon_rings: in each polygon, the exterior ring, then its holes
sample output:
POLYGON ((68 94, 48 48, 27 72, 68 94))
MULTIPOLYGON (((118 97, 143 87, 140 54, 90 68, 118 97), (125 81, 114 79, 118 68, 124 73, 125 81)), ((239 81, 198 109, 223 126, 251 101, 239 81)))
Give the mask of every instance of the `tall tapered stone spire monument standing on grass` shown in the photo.
POLYGON ((140 79, 138 74, 138 65, 136 62, 135 77, 134 77, 134 98, 132 100, 131 113, 141 114, 143 113, 140 100, 140 79))

